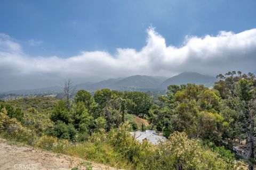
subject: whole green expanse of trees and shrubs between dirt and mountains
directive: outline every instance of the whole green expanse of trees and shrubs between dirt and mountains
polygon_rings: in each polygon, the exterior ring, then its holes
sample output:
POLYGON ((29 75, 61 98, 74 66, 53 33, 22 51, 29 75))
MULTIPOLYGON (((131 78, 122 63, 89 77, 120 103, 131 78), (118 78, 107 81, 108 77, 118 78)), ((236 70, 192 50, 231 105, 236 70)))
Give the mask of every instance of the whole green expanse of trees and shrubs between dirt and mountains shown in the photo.
POLYGON ((0 134, 116 168, 253 169, 255 105, 254 74, 233 71, 218 75, 213 89, 169 84, 159 96, 101 89, 0 101, 0 134), (140 143, 129 133, 137 130, 167 141, 140 143))

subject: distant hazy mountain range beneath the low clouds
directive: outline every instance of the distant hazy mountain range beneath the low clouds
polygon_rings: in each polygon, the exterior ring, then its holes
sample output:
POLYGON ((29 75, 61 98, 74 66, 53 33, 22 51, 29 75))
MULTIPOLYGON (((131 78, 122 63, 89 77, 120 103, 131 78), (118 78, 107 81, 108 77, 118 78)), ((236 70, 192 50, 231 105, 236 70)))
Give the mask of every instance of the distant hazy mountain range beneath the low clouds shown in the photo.
MULTIPOLYGON (((131 77, 108 79, 100 82, 86 82, 76 85, 77 90, 85 89, 95 91, 102 88, 113 90, 165 90, 171 84, 180 85, 187 83, 203 84, 210 87, 217 79, 210 75, 203 75, 196 72, 183 72, 171 78, 150 76, 150 75, 132 75, 131 77)), ((58 93, 61 92, 60 86, 47 87, 33 90, 15 90, 4 92, 4 94, 39 94, 39 93, 58 93)))

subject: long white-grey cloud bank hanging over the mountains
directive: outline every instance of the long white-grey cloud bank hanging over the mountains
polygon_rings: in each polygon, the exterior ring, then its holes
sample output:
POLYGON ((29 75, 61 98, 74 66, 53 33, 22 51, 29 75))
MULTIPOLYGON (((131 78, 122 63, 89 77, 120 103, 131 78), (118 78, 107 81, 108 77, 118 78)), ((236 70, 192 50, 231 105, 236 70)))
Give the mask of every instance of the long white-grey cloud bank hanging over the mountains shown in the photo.
POLYGON ((220 31, 217 36, 187 36, 181 47, 167 46, 153 28, 139 51, 118 48, 81 52, 76 56, 29 56, 22 46, 0 34, 0 91, 53 86, 71 78, 75 82, 99 81, 134 74, 171 77, 184 71, 216 75, 232 70, 254 72, 256 29, 240 33, 220 31))

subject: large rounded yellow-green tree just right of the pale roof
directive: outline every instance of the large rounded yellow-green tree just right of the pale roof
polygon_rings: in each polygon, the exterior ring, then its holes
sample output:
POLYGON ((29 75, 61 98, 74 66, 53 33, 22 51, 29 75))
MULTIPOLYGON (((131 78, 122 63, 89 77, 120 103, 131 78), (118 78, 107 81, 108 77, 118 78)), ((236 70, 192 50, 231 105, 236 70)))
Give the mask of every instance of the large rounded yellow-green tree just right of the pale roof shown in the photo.
POLYGON ((163 119, 166 133, 186 132, 189 137, 220 143, 223 117, 218 112, 218 91, 196 84, 169 86, 168 90, 167 95, 162 97, 164 106, 169 107, 168 117, 171 120, 163 119))

